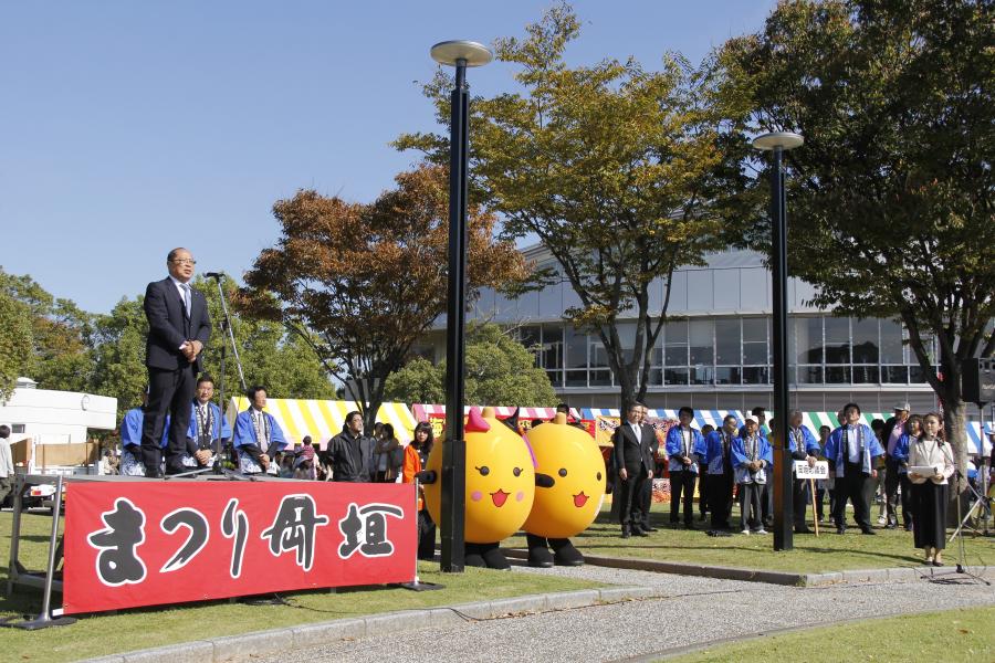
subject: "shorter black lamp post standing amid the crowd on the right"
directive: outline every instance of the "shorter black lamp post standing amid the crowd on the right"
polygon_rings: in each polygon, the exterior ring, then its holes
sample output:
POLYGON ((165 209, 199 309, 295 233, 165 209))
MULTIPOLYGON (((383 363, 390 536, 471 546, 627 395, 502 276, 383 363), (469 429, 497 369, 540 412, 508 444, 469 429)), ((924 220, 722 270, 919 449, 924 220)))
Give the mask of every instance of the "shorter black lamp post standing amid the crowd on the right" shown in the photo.
POLYGON ((794 508, 792 504, 792 459, 788 439, 788 305, 787 305, 787 214, 782 157, 799 147, 805 139, 790 131, 757 136, 753 147, 774 152, 771 168, 771 224, 773 236, 774 294, 774 549, 794 547, 794 508))

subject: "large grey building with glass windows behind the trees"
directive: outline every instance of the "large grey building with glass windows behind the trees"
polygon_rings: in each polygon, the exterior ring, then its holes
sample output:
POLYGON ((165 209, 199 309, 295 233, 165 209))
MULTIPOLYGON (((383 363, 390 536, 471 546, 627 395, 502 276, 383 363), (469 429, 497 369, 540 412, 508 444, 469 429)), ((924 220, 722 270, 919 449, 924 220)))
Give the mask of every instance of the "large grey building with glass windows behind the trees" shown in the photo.
MULTIPOLYGON (((555 266, 542 248, 523 251, 538 266, 555 266)), ((771 407, 771 274, 760 254, 727 251, 704 266, 674 272, 669 297, 662 282, 650 288, 650 312, 669 301, 652 350, 647 404, 708 409, 771 407)), ((834 411, 849 400, 868 411, 890 411, 909 401, 935 409, 932 389, 907 345, 902 325, 890 319, 837 317, 811 304, 816 291, 788 283, 792 401, 803 410, 834 411)), ((564 313, 580 301, 561 280, 538 292, 509 298, 483 291, 471 317, 516 330, 532 348, 561 398, 575 407, 618 407, 619 391, 597 334, 575 329, 564 313)), ((444 318, 432 339, 444 356, 444 318)), ((631 358, 636 323, 622 319, 619 336, 631 358)), ((935 348, 929 343, 931 358, 935 348)))

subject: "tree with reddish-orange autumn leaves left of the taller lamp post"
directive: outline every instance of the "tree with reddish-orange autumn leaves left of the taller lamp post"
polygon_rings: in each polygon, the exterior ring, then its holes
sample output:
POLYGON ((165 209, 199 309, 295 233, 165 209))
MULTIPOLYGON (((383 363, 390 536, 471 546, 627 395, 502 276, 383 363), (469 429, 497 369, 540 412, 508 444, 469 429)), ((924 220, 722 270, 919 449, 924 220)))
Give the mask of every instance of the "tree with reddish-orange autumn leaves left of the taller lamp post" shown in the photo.
MULTIPOLYGON (((387 376, 446 312, 449 182, 438 166, 396 178, 373 203, 301 190, 273 206, 282 234, 245 274, 242 304, 305 339, 346 385, 369 430, 387 376)), ((525 276, 521 254, 493 239, 496 219, 469 210, 471 301, 525 276)))

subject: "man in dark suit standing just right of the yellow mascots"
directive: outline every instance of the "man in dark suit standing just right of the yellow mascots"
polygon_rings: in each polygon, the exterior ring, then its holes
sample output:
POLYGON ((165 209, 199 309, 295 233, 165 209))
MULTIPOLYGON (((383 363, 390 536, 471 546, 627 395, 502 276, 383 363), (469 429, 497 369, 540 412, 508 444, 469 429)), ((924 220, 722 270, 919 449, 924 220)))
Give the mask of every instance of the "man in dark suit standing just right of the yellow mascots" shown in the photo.
POLYGON ((651 444, 657 434, 653 427, 641 422, 642 408, 642 403, 629 406, 626 422, 615 430, 611 440, 615 445, 615 471, 621 482, 618 497, 622 501, 619 511, 622 538, 647 535, 642 527, 640 502, 646 482, 652 476, 651 444))

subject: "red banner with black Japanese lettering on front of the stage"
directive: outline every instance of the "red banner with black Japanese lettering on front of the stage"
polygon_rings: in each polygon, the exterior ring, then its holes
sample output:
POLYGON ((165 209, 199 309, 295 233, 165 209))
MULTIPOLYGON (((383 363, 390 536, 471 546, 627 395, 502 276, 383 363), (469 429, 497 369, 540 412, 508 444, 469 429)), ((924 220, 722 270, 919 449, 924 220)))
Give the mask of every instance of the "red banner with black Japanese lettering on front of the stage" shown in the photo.
POLYGON ((407 484, 71 482, 66 614, 415 579, 407 484))

